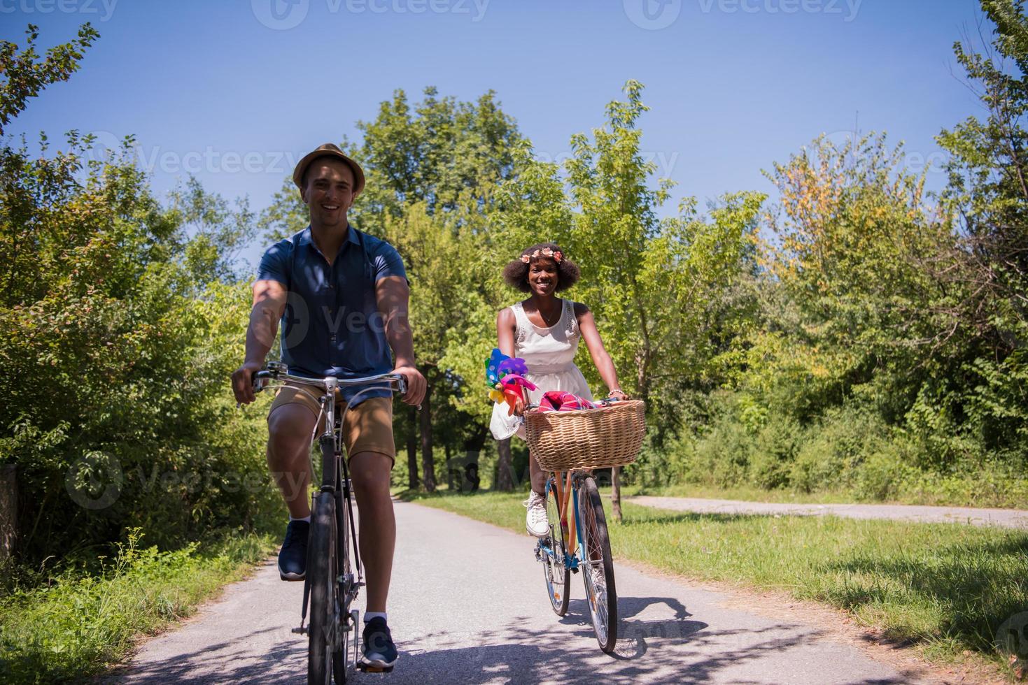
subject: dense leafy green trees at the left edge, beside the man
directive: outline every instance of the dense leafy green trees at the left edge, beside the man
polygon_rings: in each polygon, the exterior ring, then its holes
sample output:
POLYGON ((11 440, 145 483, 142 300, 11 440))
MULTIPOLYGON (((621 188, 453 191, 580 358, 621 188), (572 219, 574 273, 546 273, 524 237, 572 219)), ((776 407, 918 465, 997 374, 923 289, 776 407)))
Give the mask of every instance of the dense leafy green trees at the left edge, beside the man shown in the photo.
MULTIPOLYGON (((31 60, 8 67, 8 85, 45 84, 31 60)), ((3 110, 25 92, 5 90, 3 110)), ((30 559, 135 526, 158 544, 195 537, 246 523, 272 492, 255 422, 225 393, 221 317, 242 340, 230 263, 252 217, 191 182, 162 204, 132 144, 104 161, 75 131, 63 151, 45 137, 39 156, 0 149, 0 462, 19 466, 30 559)))

